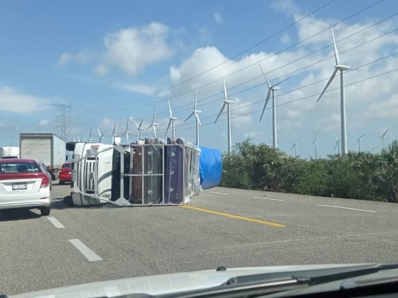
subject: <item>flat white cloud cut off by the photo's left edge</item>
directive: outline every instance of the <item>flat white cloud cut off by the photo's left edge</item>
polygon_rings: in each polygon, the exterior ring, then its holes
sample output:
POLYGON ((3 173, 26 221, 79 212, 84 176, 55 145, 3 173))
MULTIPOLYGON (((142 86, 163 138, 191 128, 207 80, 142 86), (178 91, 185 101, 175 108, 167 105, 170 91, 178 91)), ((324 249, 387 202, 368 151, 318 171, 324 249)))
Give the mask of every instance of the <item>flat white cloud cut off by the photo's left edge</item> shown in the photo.
POLYGON ((49 108, 50 100, 0 86, 0 111, 29 114, 49 108))

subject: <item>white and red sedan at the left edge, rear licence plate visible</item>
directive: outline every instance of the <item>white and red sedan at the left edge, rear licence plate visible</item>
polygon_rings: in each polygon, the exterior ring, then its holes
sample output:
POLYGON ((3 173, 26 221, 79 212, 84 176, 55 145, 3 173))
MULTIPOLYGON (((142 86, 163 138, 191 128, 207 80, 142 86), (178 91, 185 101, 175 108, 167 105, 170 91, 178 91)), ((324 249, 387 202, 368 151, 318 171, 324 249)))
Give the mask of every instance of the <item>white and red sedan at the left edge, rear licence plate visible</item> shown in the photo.
POLYGON ((49 215, 50 180, 34 159, 0 159, 0 209, 39 209, 49 215))

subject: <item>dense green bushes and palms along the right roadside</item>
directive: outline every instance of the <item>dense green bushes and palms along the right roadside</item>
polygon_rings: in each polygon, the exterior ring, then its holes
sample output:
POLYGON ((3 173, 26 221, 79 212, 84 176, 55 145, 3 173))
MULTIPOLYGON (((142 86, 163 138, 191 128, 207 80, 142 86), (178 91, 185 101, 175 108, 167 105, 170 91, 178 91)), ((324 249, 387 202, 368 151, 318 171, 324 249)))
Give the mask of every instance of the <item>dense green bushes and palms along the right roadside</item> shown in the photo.
POLYGON ((398 203, 398 141, 377 153, 304 159, 248 139, 223 154, 220 186, 398 203))

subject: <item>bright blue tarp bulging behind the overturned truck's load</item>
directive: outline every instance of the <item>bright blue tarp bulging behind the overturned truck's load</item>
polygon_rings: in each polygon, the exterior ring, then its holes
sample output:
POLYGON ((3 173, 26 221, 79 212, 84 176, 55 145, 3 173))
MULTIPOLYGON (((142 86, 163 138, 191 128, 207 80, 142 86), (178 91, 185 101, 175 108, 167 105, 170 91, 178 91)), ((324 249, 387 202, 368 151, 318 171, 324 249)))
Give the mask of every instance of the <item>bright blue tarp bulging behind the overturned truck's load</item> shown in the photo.
POLYGON ((221 181, 222 157, 220 150, 200 147, 199 176, 202 189, 217 186, 221 181))

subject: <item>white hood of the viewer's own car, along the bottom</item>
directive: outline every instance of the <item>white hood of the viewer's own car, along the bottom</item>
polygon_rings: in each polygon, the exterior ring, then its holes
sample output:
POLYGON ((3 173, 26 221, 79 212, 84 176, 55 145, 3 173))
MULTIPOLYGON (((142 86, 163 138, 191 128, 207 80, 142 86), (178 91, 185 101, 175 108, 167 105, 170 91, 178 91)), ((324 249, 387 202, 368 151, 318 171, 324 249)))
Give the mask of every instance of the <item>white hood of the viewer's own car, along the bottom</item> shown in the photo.
MULTIPOLYGON (((225 271, 204 270, 180 272, 172 274, 152 275, 125 278, 111 281, 68 286, 8 296, 11 298, 92 298, 116 297, 127 294, 142 293, 148 295, 172 294, 211 288, 221 285, 231 277, 298 271, 311 269, 327 269, 364 264, 332 264, 332 265, 289 265, 227 268, 225 271)), ((6 293, 2 293, 6 294, 6 293)))

